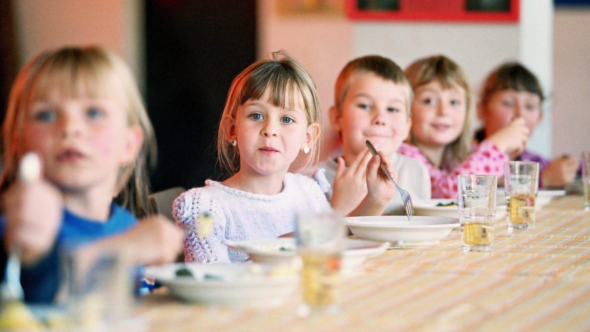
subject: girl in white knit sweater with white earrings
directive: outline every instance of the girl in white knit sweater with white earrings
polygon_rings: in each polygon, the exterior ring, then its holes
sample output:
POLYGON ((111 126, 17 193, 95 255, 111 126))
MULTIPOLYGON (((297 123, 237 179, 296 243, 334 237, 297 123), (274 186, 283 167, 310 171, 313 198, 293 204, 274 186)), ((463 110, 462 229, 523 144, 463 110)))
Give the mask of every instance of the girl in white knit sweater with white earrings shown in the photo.
MULTIPOLYGON (((314 82, 284 51, 237 75, 217 135, 218 158, 231 177, 207 180, 174 201, 176 223, 187 230, 186 261, 245 261, 226 239, 279 237, 294 231, 298 213, 331 211, 316 180, 289 172, 317 163, 321 119, 314 82), (211 227, 202 222, 207 217, 211 227)), ((368 164, 368 193, 351 215, 380 215, 391 200, 380 162, 375 156, 368 164)))

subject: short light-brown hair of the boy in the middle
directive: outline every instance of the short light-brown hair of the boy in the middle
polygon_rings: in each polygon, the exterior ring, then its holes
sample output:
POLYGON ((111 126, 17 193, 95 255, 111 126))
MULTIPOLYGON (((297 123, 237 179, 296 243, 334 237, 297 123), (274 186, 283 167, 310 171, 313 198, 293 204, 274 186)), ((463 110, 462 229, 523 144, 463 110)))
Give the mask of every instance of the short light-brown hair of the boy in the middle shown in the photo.
POLYGON ((347 63, 342 71, 340 71, 334 86, 334 105, 338 113, 342 114, 342 103, 344 103, 346 94, 349 92, 353 76, 359 73, 374 73, 384 80, 389 80, 394 84, 403 86, 406 90, 406 108, 408 109, 408 117, 410 117, 412 99, 414 98, 410 81, 395 62, 383 56, 362 56, 356 58, 347 63))

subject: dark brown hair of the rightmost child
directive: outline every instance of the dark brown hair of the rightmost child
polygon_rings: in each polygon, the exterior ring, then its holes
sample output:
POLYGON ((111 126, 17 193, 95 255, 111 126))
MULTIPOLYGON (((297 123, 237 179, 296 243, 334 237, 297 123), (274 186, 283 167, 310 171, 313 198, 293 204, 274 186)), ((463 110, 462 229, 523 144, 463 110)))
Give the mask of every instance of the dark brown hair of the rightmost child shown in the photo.
POLYGON ((539 96, 541 103, 545 99, 541 83, 532 71, 519 62, 506 62, 489 73, 482 87, 480 104, 487 107, 490 98, 497 91, 527 91, 539 96))

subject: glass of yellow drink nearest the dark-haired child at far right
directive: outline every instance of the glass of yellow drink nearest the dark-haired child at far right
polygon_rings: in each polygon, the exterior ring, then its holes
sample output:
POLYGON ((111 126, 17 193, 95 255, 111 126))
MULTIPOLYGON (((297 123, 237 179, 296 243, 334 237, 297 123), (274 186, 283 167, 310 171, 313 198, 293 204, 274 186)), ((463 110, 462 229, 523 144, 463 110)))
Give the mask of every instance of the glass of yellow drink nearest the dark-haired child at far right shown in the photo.
POLYGON ((539 163, 509 161, 504 164, 504 189, 508 228, 534 228, 535 202, 539 191, 539 163))

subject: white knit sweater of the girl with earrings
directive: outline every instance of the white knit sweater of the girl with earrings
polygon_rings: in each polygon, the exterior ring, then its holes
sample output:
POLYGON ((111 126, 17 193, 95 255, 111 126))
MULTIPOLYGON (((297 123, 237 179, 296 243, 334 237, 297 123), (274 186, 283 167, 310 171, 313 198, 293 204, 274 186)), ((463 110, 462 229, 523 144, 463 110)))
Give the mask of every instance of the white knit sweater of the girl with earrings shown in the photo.
POLYGON ((285 175, 283 191, 276 195, 249 193, 206 180, 205 187, 180 194, 172 209, 176 224, 187 230, 185 261, 200 263, 246 261, 247 254, 231 250, 224 240, 276 238, 295 230, 298 213, 329 211, 318 182, 292 173, 285 175), (213 228, 200 237, 196 220, 204 213, 213 217, 213 228))

